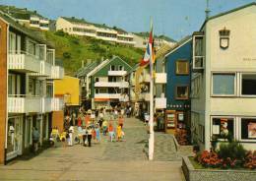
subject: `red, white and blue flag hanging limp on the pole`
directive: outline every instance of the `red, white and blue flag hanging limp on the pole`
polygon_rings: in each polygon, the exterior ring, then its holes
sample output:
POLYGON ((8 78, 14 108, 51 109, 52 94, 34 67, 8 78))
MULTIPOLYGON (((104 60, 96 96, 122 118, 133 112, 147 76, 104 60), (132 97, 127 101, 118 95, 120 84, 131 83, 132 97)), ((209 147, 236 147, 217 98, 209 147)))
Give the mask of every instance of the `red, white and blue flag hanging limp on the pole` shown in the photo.
POLYGON ((154 55, 154 37, 153 37, 153 26, 151 23, 151 32, 149 36, 149 42, 147 44, 147 48, 144 54, 144 57, 142 58, 140 62, 140 66, 145 66, 150 64, 151 66, 151 75, 153 72, 153 63, 155 61, 155 55, 154 55))

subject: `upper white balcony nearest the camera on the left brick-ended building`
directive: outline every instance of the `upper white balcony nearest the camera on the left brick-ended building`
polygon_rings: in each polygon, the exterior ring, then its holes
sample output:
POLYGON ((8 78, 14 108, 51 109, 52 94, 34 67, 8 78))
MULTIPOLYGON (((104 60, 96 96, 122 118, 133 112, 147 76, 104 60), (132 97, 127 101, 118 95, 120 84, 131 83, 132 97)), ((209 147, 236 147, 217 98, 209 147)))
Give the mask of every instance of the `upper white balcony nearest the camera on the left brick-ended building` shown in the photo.
POLYGON ((11 52, 8 55, 8 69, 25 73, 39 73, 40 61, 34 55, 30 55, 27 52, 11 52))

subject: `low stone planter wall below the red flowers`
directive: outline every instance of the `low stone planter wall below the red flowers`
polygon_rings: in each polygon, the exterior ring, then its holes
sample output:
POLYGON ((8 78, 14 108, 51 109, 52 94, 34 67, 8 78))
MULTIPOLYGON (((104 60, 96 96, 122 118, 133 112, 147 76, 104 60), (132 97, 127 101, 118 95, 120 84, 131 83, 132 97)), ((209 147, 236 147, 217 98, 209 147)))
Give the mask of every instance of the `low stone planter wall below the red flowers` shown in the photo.
POLYGON ((256 171, 246 169, 196 169, 188 156, 182 157, 182 170, 186 181, 255 181, 256 171))

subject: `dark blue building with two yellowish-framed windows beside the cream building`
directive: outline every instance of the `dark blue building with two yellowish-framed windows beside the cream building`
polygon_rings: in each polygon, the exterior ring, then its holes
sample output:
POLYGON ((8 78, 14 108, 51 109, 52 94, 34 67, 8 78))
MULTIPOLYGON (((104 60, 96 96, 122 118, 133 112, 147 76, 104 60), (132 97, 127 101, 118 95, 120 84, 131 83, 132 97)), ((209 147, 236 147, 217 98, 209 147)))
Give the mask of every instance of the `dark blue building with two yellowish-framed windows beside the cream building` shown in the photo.
POLYGON ((191 50, 192 37, 187 36, 165 55, 164 69, 167 74, 165 86, 166 132, 175 133, 177 128, 189 127, 191 50))

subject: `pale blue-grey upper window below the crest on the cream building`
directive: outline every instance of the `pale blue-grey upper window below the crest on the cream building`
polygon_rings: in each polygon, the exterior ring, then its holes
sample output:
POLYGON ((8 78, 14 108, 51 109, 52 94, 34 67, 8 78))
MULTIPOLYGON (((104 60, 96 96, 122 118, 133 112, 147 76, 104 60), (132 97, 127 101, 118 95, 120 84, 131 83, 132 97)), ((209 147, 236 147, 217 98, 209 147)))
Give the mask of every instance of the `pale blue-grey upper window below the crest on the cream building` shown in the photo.
POLYGON ((214 95, 234 95, 235 94, 235 74, 214 74, 213 94, 214 95))

